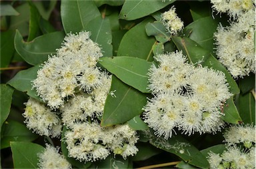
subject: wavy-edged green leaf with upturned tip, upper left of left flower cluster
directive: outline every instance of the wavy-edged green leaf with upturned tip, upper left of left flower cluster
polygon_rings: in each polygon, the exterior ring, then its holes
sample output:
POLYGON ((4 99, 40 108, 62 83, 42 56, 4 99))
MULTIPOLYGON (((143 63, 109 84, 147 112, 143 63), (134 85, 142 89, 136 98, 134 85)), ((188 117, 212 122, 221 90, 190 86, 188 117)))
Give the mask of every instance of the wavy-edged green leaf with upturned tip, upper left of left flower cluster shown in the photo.
POLYGON ((54 32, 37 37, 31 42, 25 42, 19 31, 16 31, 14 41, 17 53, 30 65, 37 65, 47 61, 48 55, 55 54, 56 49, 61 47, 63 39, 63 32, 54 32))

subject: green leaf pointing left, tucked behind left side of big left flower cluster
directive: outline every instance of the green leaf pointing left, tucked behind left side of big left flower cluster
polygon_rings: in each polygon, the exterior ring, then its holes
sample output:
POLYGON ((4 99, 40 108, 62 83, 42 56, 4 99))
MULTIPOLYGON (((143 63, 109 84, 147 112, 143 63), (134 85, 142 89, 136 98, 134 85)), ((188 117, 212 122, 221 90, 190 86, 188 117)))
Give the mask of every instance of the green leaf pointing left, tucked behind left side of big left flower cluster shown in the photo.
POLYGON ((15 77, 13 77, 13 79, 11 79, 8 82, 8 84, 13 86, 17 90, 20 90, 22 92, 27 92, 27 95, 37 100, 40 100, 39 96, 37 96, 37 91, 35 90, 35 88, 32 89, 32 83, 31 83, 31 81, 37 78, 37 71, 39 69, 40 67, 39 65, 37 65, 35 67, 26 69, 24 71, 19 71, 19 73, 17 73, 15 77))

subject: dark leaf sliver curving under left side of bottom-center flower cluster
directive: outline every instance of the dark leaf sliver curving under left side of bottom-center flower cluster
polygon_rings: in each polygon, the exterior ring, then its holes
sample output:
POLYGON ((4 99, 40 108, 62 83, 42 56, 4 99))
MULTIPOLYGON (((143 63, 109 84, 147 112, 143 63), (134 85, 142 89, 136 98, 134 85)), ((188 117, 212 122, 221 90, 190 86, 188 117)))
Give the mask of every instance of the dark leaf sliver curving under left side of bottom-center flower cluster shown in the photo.
POLYGON ((79 162, 79 160, 75 160, 75 158, 71 158, 68 156, 69 152, 67 150, 67 144, 65 142, 65 132, 67 131, 67 128, 63 126, 63 130, 61 132, 61 152, 67 159, 67 161, 72 164, 72 166, 76 166, 77 168, 88 168, 91 165, 91 162, 79 162))

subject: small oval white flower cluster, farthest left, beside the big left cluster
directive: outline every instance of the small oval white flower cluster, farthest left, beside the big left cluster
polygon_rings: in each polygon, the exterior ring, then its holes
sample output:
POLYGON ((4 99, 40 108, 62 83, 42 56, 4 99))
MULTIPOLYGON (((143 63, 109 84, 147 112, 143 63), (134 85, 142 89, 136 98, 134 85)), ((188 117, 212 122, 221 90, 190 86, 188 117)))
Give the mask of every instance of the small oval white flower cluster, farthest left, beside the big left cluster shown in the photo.
POLYGON ((41 136, 57 137, 61 135, 62 124, 56 112, 51 111, 45 104, 34 98, 29 98, 25 105, 23 116, 27 128, 41 136))

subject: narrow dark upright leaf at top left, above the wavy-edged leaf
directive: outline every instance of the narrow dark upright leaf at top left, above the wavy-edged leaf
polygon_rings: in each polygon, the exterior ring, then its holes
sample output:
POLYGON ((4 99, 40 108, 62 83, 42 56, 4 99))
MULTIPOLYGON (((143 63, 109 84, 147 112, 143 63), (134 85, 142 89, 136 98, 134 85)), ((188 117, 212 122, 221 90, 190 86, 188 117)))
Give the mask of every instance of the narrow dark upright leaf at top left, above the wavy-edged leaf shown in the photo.
POLYGON ((37 7, 29 1, 29 7, 30 7, 30 19, 29 19, 29 37, 27 38, 27 41, 32 41, 39 35, 39 19, 40 14, 37 10, 37 7))

